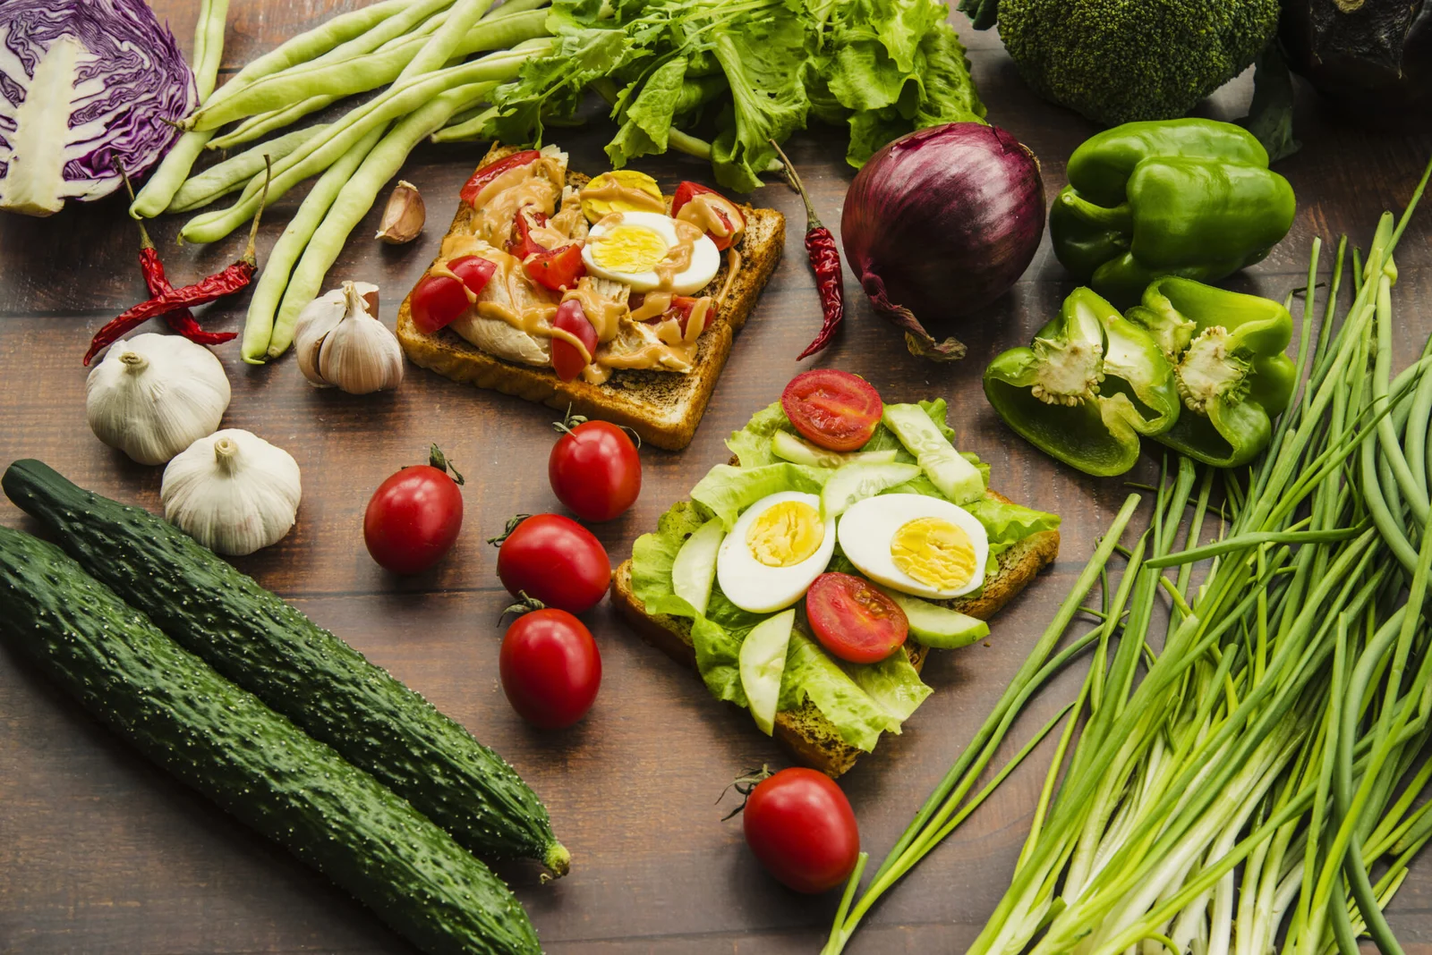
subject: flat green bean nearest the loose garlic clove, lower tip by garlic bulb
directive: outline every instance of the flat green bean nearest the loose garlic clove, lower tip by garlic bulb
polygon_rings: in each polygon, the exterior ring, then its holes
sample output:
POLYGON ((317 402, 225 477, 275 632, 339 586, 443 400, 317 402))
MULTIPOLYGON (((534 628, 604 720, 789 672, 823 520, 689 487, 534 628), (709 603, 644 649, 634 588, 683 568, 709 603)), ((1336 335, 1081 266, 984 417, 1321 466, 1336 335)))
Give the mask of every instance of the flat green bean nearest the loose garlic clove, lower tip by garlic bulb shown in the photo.
POLYGON ((494 87, 495 83, 474 83, 437 96, 394 126, 368 153, 358 172, 344 183, 288 280, 269 340, 269 357, 282 355, 292 342, 299 312, 322 292, 324 277, 342 252, 348 236, 372 209, 378 190, 398 173, 412 147, 440 129, 453 113, 467 109, 474 100, 490 94, 494 87))

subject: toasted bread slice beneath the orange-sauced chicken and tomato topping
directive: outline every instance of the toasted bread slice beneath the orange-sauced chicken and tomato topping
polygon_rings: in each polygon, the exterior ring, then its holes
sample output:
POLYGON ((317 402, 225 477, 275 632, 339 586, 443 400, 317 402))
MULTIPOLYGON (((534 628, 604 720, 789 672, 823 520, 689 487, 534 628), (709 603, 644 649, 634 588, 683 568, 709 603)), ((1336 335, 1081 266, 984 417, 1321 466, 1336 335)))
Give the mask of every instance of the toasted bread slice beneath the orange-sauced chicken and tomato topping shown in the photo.
MULTIPOLYGON (((511 152, 513 147, 494 146, 480 166, 511 152)), ((567 182, 580 189, 587 177, 569 172, 567 182)), ((667 197, 667 207, 670 202, 667 197)), ((746 217, 745 234, 736 246, 742 257, 740 269, 726 300, 700 337, 696 367, 689 375, 617 370, 604 385, 590 385, 581 379, 563 382, 550 367, 518 365, 488 355, 450 329, 441 329, 435 335, 420 332, 412 323, 408 299, 404 299, 398 309, 398 342, 414 365, 421 365, 454 382, 516 395, 557 410, 571 407, 573 413, 630 427, 649 445, 679 450, 686 447, 696 433, 696 426, 706 413, 706 403, 716 390, 716 379, 726 366, 726 356, 730 355, 736 332, 756 306, 756 299, 775 272, 786 243, 785 216, 775 209, 753 209, 746 204, 739 207, 746 217)), ((471 217, 471 207, 458 203, 448 234, 470 233, 471 217)), ((729 264, 723 262, 720 272, 703 293, 720 290, 727 272, 729 264)))

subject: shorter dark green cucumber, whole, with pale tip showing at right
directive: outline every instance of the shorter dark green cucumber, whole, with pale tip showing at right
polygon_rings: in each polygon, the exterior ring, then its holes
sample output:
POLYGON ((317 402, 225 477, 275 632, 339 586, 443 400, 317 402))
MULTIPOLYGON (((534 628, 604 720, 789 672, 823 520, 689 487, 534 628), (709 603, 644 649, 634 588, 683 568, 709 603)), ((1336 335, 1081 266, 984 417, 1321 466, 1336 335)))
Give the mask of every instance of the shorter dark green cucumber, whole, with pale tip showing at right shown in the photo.
POLYGON ((72 558, 159 629, 487 858, 570 855, 547 809, 507 762, 209 549, 147 510, 17 460, 4 492, 72 558))

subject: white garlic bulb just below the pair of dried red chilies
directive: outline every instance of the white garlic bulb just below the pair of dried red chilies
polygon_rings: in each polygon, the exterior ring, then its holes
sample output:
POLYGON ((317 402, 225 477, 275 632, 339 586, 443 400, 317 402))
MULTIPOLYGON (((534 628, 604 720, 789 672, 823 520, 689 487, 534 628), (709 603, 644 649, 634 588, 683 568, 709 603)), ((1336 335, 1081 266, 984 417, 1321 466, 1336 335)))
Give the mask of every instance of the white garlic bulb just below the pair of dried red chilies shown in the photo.
POLYGON ((90 430, 140 465, 162 465, 212 435, 228 407, 223 365, 178 335, 115 342, 84 382, 90 430))

